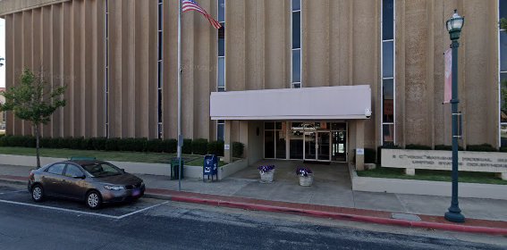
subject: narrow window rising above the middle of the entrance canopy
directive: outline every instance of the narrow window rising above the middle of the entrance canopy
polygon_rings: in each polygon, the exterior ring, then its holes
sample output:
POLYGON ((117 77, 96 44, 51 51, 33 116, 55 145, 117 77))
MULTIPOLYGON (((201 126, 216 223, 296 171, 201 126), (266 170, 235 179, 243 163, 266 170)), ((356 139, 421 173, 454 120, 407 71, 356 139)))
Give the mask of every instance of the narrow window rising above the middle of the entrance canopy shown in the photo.
POLYGON ((301 87, 301 0, 291 1, 291 87, 301 87))

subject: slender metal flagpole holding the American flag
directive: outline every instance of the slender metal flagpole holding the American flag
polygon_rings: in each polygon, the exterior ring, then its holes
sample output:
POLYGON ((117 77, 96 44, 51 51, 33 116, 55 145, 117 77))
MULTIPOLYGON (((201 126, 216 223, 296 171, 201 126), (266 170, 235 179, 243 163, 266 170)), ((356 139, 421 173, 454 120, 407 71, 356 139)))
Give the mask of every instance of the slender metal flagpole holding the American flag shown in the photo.
POLYGON ((178 191, 182 191, 182 0, 178 0, 178 191))

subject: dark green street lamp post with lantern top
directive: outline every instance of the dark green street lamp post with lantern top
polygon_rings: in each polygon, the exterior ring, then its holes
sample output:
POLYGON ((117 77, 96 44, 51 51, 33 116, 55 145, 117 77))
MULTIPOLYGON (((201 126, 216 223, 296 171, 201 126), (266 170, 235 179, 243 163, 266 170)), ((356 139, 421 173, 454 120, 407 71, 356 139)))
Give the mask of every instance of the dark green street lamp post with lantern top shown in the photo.
POLYGON ((445 23, 447 31, 451 36, 452 44, 452 201, 449 207, 449 212, 445 212, 445 220, 452 222, 464 222, 465 216, 461 214, 461 209, 458 204, 458 39, 460 38, 461 28, 465 19, 461 17, 456 10, 452 17, 445 23))

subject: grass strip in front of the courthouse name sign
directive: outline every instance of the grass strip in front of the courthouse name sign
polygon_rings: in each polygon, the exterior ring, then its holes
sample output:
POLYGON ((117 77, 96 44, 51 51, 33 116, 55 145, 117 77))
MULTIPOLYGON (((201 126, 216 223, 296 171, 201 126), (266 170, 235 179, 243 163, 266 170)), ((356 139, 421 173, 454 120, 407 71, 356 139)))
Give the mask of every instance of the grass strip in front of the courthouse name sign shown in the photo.
MULTIPOLYGON (((357 171, 360 177, 388 178, 388 179, 419 179, 434 181, 452 181, 451 171, 416 170, 416 175, 403 173, 403 169, 379 167, 375 170, 357 171)), ((460 182, 507 185, 507 180, 494 176, 494 172, 460 171, 460 182)))

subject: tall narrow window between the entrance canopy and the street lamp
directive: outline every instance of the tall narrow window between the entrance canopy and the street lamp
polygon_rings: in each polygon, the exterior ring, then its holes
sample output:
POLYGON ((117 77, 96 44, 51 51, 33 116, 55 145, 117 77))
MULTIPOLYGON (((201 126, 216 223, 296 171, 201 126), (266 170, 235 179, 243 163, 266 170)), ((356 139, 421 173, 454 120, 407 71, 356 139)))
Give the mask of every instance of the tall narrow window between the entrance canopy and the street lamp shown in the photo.
POLYGON ((395 43, 394 0, 382 1, 382 96, 381 141, 382 145, 394 145, 395 140, 395 43))

